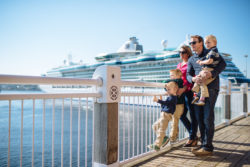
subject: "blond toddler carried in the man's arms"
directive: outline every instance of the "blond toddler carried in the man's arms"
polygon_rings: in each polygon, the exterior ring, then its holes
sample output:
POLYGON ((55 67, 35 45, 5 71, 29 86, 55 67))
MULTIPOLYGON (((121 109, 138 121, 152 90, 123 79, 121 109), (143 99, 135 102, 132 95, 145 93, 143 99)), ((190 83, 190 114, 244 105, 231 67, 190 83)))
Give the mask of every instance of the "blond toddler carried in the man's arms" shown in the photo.
POLYGON ((207 85, 211 83, 214 78, 205 78, 205 74, 207 72, 213 71, 214 67, 219 63, 219 53, 218 49, 216 47, 217 40, 216 37, 213 35, 208 35, 205 37, 205 45, 206 48, 209 49, 208 54, 206 55, 204 60, 198 60, 196 63, 200 64, 202 66, 202 71, 199 73, 198 76, 200 76, 203 80, 201 84, 195 83, 193 86, 192 91, 194 92, 194 100, 192 101, 192 104, 196 104, 199 106, 205 105, 205 98, 209 97, 207 85), (200 91, 200 98, 197 96, 197 94, 200 91), (196 102, 199 100, 198 102, 196 102))

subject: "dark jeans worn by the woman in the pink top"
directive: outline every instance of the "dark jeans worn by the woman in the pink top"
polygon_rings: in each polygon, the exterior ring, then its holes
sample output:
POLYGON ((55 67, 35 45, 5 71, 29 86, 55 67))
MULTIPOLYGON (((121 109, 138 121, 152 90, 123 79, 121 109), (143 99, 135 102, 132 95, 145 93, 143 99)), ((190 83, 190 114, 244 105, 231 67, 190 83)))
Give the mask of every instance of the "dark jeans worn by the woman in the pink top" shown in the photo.
POLYGON ((188 130, 189 139, 194 140, 197 137, 196 134, 198 129, 198 122, 195 117, 194 105, 191 104, 193 100, 193 92, 192 91, 185 92, 184 97, 185 97, 185 104, 184 104, 184 112, 181 116, 181 121, 185 126, 185 128, 188 130), (190 113, 191 122, 187 118, 188 111, 190 113))

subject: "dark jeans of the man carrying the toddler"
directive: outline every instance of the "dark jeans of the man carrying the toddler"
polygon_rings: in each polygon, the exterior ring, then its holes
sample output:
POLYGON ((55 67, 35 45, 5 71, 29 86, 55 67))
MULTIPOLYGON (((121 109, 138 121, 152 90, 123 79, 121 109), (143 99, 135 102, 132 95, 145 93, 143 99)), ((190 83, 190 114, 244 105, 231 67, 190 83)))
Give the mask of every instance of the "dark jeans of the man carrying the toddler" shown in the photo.
POLYGON ((195 105, 194 110, 201 133, 202 148, 207 151, 213 151, 214 107, 219 91, 216 89, 208 89, 208 92, 209 97, 205 99, 205 105, 195 105))

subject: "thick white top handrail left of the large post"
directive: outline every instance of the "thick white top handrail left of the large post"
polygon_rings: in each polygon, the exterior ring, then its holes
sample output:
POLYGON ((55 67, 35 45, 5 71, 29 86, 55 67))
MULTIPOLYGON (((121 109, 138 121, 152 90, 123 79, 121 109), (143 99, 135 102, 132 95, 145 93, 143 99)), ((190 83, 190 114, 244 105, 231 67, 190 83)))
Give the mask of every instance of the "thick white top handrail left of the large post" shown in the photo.
POLYGON ((0 84, 38 84, 38 85, 102 85, 102 79, 80 79, 39 77, 24 75, 0 75, 0 84))

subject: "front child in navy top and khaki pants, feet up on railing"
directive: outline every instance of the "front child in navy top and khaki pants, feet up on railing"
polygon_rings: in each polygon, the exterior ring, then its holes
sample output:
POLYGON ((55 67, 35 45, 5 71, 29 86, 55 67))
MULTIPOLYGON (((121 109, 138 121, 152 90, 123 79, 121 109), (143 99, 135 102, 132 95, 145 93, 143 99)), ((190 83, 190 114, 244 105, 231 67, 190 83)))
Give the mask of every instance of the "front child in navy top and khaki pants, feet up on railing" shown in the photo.
POLYGON ((164 147, 169 141, 165 131, 168 127, 169 121, 172 120, 177 103, 176 92, 178 90, 178 85, 175 82, 169 82, 165 85, 165 88, 169 94, 166 100, 162 100, 161 96, 160 99, 157 99, 156 96, 154 96, 153 99, 154 102, 161 104, 161 116, 152 126, 154 132, 156 133, 156 140, 154 144, 149 145, 150 149, 154 149, 156 151, 160 150, 161 147, 164 147))

